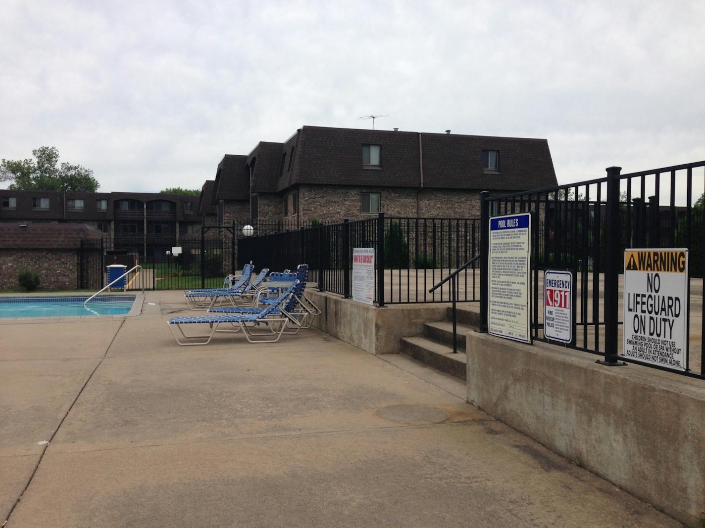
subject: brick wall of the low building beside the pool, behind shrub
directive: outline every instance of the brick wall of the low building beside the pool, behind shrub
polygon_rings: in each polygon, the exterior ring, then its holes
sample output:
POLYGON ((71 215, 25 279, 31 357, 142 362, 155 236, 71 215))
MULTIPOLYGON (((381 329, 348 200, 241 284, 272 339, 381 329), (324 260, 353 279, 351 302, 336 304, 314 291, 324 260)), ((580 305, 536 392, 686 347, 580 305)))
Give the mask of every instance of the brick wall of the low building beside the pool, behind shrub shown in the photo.
POLYGON ((0 249, 0 290, 20 289, 22 270, 39 273, 39 289, 75 289, 78 256, 74 249, 0 249))

